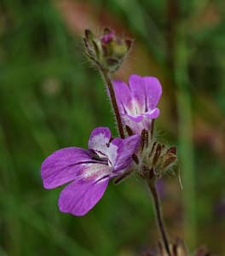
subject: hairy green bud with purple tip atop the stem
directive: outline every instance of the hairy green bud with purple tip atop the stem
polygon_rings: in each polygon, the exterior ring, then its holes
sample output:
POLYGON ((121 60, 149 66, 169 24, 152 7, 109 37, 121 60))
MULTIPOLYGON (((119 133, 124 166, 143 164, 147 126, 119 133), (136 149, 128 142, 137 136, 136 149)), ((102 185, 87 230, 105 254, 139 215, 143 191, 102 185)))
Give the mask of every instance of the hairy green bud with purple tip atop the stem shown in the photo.
POLYGON ((130 51, 132 41, 119 38, 109 28, 105 28, 101 37, 96 37, 90 30, 85 30, 84 47, 91 61, 101 70, 115 72, 130 51))

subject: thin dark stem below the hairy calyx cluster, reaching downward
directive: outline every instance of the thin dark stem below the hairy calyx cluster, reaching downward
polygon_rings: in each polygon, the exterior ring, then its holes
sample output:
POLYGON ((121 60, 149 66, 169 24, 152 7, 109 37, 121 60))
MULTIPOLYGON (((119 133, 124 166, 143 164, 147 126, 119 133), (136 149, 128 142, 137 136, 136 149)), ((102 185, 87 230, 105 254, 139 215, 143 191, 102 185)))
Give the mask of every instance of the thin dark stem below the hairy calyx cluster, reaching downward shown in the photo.
POLYGON ((149 189, 151 190, 151 193, 153 195, 153 205, 154 205, 155 214, 156 214, 155 216, 156 216, 157 224, 159 226, 159 232, 162 236, 164 249, 165 249, 166 253, 168 254, 168 256, 171 256, 170 246, 169 246, 170 243, 169 243, 169 239, 166 235, 166 231, 165 231, 165 227, 164 227, 164 220, 163 220, 163 216, 162 216, 162 212, 161 212, 159 195, 155 188, 154 182, 149 182, 148 185, 149 185, 149 189))

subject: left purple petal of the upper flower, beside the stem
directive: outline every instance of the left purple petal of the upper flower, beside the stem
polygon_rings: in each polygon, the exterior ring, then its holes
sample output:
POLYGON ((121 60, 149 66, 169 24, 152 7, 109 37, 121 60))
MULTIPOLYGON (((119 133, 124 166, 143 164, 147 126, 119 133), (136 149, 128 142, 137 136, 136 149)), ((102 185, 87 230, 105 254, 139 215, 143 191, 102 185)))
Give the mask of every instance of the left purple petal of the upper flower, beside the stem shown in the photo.
POLYGON ((130 88, 123 81, 113 81, 113 88, 118 102, 120 113, 130 113, 132 108, 130 88))

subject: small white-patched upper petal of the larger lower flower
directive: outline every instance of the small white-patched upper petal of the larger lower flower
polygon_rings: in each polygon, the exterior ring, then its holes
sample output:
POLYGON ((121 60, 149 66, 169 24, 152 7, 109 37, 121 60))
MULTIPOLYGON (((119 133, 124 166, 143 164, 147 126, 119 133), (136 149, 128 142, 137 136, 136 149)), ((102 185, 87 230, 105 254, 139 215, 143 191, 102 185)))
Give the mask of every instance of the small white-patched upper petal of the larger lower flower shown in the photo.
POLYGON ((111 138, 111 132, 107 127, 95 128, 89 137, 89 149, 107 155, 107 144, 111 138))

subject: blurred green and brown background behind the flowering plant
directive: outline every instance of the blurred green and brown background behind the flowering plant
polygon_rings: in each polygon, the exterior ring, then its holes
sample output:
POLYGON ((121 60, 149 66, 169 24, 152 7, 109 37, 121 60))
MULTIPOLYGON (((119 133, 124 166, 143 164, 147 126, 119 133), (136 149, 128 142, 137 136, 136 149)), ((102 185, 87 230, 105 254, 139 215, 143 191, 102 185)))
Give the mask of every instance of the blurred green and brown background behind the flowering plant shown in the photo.
POLYGON ((182 190, 160 181, 171 239, 225 253, 225 2, 210 0, 0 1, 0 255, 141 255, 159 234, 145 183, 111 183, 82 218, 58 211, 40 165, 58 148, 86 147, 115 124, 84 28, 135 38, 115 78, 157 76, 160 141, 177 145, 182 190))

